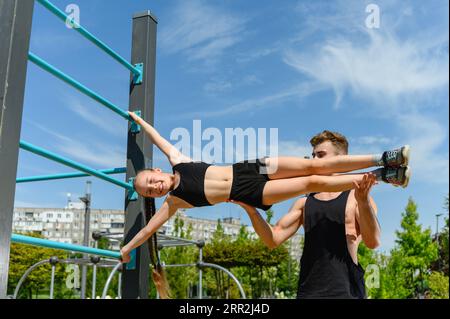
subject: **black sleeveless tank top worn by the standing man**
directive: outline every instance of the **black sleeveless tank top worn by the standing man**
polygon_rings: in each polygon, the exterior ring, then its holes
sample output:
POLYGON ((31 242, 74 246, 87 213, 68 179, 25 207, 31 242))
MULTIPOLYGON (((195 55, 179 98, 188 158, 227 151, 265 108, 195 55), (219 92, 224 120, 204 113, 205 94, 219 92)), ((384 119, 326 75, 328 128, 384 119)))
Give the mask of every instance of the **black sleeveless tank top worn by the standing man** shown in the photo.
POLYGON ((305 245, 297 298, 366 298, 364 270, 348 252, 345 208, 350 191, 322 201, 311 194, 304 210, 305 245))

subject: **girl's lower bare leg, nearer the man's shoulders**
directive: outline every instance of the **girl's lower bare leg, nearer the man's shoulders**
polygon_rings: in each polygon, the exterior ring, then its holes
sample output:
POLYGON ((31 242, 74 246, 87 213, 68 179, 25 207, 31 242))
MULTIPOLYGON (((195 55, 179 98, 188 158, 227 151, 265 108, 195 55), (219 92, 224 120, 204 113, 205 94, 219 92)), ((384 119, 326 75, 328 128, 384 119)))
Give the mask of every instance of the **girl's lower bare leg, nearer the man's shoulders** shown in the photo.
POLYGON ((353 189, 353 182, 360 182, 363 176, 364 174, 311 175, 271 180, 264 186, 263 204, 273 205, 308 193, 343 192, 353 189))

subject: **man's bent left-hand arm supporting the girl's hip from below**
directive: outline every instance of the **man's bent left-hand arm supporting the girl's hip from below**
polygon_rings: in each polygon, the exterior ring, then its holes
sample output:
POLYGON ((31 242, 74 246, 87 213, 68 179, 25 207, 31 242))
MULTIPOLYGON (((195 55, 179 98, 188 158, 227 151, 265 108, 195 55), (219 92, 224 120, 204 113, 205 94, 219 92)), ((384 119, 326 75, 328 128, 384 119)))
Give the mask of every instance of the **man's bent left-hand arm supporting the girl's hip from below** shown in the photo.
POLYGON ((255 207, 242 202, 231 202, 236 203, 245 209, 250 217, 255 232, 270 249, 280 246, 292 237, 303 224, 304 198, 297 200, 289 209, 289 212, 284 215, 275 226, 267 223, 255 207))

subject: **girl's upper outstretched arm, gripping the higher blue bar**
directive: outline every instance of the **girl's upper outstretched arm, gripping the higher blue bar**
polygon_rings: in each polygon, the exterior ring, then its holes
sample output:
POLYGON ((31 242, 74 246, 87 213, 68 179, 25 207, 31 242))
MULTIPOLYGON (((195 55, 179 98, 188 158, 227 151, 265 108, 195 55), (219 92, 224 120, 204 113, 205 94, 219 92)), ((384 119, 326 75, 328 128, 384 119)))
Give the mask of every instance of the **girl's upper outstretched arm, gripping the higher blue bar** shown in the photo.
POLYGON ((153 126, 145 122, 142 118, 140 118, 133 112, 128 112, 128 114, 130 114, 133 121, 136 122, 136 124, 140 125, 142 129, 147 133, 147 135, 152 140, 152 143, 155 144, 161 150, 161 152, 163 152, 164 155, 167 156, 172 166, 178 163, 192 161, 189 157, 183 155, 175 146, 173 146, 169 141, 162 137, 153 126))

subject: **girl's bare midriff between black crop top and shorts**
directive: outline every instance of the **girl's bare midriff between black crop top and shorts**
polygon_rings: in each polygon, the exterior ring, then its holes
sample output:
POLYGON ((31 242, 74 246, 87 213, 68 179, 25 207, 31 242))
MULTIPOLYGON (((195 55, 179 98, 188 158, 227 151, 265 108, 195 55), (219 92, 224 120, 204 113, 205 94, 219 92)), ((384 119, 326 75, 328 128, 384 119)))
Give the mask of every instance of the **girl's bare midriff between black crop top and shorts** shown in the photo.
POLYGON ((205 196, 210 204, 228 200, 233 184, 233 166, 211 165, 205 174, 205 196))

